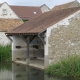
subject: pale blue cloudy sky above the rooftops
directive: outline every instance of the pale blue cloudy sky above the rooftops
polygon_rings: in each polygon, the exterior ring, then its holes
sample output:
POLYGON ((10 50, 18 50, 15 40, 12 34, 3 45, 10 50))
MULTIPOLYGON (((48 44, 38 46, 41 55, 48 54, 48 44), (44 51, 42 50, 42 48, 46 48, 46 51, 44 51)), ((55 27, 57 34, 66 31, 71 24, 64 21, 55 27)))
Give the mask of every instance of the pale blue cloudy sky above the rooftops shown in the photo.
MULTIPOLYGON (((21 6, 41 6, 46 4, 49 8, 53 8, 55 5, 64 4, 74 0, 0 0, 0 3, 7 2, 9 5, 21 5, 21 6)), ((80 2, 80 0, 77 0, 80 2)))

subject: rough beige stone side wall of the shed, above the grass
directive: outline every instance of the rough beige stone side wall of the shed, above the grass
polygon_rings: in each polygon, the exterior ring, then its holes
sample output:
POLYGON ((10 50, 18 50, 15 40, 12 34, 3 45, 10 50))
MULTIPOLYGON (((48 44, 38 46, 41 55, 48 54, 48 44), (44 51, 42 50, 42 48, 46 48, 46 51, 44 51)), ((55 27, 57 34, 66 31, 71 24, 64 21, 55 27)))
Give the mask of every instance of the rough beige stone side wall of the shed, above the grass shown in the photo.
MULTIPOLYGON (((80 54, 80 13, 68 19, 68 25, 57 25, 49 36, 49 64, 71 54, 80 54)), ((65 20, 65 19, 64 19, 65 20)))

